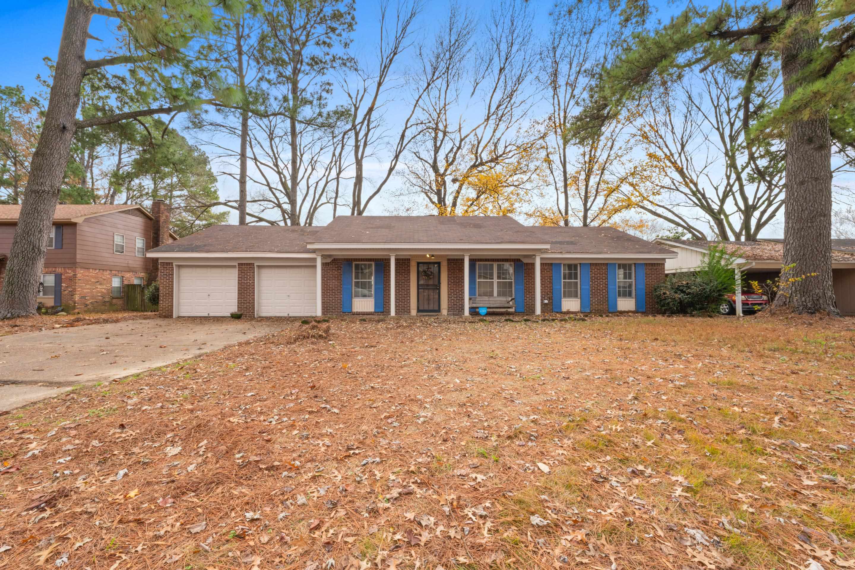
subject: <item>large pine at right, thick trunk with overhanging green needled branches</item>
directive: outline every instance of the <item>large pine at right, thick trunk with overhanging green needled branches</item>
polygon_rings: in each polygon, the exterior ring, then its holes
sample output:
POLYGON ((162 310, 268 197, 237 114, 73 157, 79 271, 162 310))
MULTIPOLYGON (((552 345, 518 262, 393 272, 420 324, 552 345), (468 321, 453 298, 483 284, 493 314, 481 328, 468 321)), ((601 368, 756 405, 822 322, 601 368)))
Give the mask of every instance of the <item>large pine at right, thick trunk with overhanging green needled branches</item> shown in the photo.
MULTIPOLYGON (((636 3, 627 21, 646 23, 649 9, 636 3)), ((629 10, 627 10, 629 12, 629 10)), ((855 101, 855 5, 843 0, 722 3, 717 9, 690 6, 667 25, 636 32, 616 64, 604 70, 598 97, 576 125, 584 136, 621 105, 686 68, 703 73, 742 53, 780 58, 784 97, 758 118, 752 137, 786 142, 787 198, 784 265, 795 273, 817 273, 781 296, 779 305, 799 313, 834 308, 831 273, 831 146, 852 140, 855 101), (793 265, 794 264, 794 265, 793 265)), ((751 112, 751 109, 748 109, 751 112)))

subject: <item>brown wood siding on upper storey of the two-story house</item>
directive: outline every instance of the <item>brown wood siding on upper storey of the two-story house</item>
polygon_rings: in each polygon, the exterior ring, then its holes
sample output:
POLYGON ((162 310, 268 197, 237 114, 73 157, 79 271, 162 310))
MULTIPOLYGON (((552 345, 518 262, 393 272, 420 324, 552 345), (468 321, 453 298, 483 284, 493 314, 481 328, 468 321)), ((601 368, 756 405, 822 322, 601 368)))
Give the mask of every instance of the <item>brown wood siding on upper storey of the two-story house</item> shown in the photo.
POLYGON ((77 227, 78 267, 149 272, 151 260, 135 254, 136 238, 145 238, 145 249, 151 249, 151 220, 125 212, 86 218, 77 227), (124 254, 113 253, 114 233, 125 236, 124 254))

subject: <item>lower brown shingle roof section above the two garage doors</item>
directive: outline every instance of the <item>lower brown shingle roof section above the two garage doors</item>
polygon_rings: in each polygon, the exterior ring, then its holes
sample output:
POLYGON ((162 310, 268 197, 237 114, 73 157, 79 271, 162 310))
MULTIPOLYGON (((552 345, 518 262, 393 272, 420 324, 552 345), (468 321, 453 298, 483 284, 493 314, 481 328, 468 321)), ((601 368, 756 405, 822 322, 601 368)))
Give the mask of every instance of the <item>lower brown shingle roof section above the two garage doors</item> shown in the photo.
POLYGON ((319 226, 209 226, 148 253, 313 253, 319 226))

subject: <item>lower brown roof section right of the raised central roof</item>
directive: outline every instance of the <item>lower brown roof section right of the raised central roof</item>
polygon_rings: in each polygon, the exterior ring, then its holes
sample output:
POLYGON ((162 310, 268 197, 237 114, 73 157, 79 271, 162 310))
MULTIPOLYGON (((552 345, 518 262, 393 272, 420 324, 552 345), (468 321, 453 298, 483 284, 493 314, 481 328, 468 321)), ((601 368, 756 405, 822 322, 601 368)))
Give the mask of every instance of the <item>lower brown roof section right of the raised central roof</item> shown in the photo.
POLYGON ((657 254, 669 253, 661 245, 636 238, 614 227, 533 226, 535 235, 550 242, 550 253, 657 254))

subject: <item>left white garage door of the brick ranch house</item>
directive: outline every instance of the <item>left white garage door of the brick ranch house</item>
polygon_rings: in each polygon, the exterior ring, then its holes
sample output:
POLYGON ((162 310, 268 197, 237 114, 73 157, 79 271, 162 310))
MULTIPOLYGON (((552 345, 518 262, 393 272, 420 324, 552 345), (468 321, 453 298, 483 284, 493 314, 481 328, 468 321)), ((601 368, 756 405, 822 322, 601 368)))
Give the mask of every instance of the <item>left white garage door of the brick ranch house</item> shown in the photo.
POLYGON ((223 317, 238 310, 238 267, 186 265, 178 268, 178 315, 223 317))

